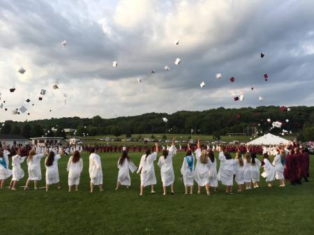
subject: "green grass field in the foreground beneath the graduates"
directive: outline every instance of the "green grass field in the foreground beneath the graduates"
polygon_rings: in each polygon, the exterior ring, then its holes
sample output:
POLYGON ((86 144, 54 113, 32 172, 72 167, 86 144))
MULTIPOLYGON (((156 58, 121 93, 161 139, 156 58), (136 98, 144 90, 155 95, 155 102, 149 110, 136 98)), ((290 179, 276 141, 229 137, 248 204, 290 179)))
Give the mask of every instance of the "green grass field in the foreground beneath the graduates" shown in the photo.
MULTIPOLYGON (((130 153, 136 165, 140 155, 130 153)), ((218 193, 209 197, 204 190, 202 195, 184 195, 179 179, 183 157, 184 153, 174 157, 176 195, 161 195, 160 170, 155 164, 157 193, 151 195, 146 188, 142 197, 137 174, 131 175, 130 190, 114 190, 119 153, 101 154, 105 191, 94 194, 89 193, 88 155, 84 153, 80 191, 69 193, 68 157, 63 157, 59 160, 61 190, 54 186, 49 192, 0 190, 0 234, 313 234, 313 179, 296 186, 286 182, 285 188, 276 182, 268 188, 261 177, 260 188, 241 194, 225 195, 219 185, 218 193)), ((42 172, 45 176, 44 167, 42 172)), ((310 172, 314 174, 313 156, 310 172)), ((43 179, 39 186, 44 185, 43 179)))

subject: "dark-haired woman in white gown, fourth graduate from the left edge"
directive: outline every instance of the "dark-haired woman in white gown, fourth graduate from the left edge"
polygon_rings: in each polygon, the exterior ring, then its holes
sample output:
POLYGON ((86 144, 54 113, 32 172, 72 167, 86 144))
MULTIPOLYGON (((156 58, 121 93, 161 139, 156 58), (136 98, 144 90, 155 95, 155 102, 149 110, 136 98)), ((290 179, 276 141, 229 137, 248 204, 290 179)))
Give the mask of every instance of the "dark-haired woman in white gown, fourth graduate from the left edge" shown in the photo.
POLYGON ((55 154, 54 151, 50 151, 49 155, 45 159, 46 167, 46 192, 49 189, 49 185, 57 184, 57 189, 61 189, 59 179, 59 167, 58 160, 63 155, 63 151, 60 154, 55 154))

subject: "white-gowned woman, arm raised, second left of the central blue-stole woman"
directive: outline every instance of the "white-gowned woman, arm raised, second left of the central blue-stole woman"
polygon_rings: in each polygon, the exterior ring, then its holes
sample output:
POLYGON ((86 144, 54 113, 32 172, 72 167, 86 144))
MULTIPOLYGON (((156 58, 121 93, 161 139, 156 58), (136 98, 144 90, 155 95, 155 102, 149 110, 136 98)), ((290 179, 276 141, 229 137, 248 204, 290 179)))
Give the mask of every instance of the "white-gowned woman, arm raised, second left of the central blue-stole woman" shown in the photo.
POLYGON ((154 161, 156 161, 158 153, 158 144, 155 143, 156 152, 151 153, 150 149, 146 150, 140 160, 140 165, 137 169, 137 174, 140 174, 141 185, 140 185, 140 196, 143 195, 143 190, 146 186, 151 185, 151 193, 156 193, 154 190, 154 185, 157 183, 155 175, 154 161))

